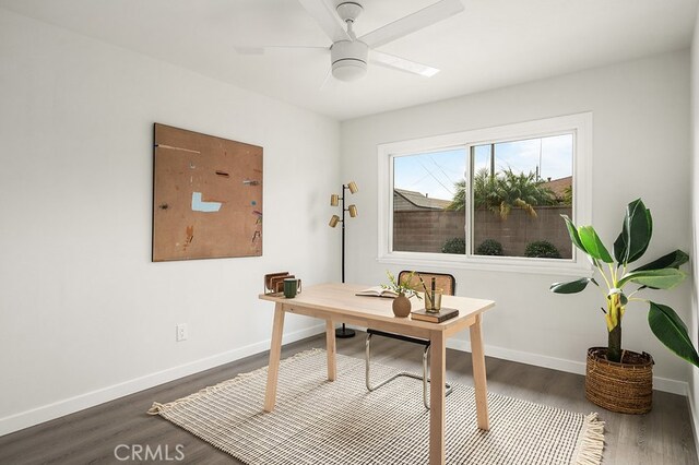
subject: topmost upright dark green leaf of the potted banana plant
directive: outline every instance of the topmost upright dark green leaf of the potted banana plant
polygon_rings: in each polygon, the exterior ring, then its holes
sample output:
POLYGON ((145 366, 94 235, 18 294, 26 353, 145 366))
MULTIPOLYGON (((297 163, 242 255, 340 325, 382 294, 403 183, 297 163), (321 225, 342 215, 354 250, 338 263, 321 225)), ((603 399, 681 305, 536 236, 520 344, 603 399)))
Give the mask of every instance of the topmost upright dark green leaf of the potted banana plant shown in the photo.
POLYGON ((631 263, 643 255, 653 235, 653 218, 640 199, 626 207, 621 234, 614 241, 614 255, 617 262, 631 263))

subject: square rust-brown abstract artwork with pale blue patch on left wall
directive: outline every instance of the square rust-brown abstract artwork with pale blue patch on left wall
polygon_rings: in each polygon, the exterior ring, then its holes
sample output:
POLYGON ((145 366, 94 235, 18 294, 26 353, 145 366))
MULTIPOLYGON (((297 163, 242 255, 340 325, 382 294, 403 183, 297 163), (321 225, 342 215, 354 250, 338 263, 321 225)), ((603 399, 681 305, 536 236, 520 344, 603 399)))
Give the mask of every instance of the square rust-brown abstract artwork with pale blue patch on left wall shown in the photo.
POLYGON ((262 147, 154 126, 153 261, 262 255, 262 147))

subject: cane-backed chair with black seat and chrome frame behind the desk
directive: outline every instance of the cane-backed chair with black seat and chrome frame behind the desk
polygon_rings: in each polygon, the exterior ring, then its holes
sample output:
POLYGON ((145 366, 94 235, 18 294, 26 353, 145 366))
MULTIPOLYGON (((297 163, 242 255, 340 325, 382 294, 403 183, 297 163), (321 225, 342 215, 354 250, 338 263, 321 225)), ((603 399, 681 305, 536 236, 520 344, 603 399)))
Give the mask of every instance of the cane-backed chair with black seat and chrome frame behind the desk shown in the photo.
MULTIPOLYGON (((399 275, 398 275, 398 282, 399 283, 403 283, 403 281, 406 278, 406 276, 410 275, 411 272, 408 271, 402 271, 399 275)), ((413 288, 419 288, 420 282, 419 278, 423 278, 423 282, 426 284, 431 284, 431 279, 433 277, 435 278, 435 284, 436 287, 442 289, 443 294, 447 294, 449 296, 453 296, 454 291, 455 291, 455 287, 457 287, 457 281, 454 279, 454 277, 450 274, 443 274, 443 273, 423 273, 423 272, 416 272, 411 282, 408 283, 411 285, 411 287, 413 288)), ((402 334, 394 334, 394 333, 388 333, 386 331, 378 331, 378 330, 372 330, 372 329, 367 329, 367 341, 366 341, 366 358, 365 358, 365 365, 366 365, 366 385, 367 385, 367 390, 369 392, 376 391, 377 389, 386 385, 387 383, 393 381, 394 379, 399 378, 399 377, 406 377, 406 378, 413 378, 416 380, 422 380, 423 381, 423 403, 425 404, 425 408, 429 409, 429 400, 427 398, 427 392, 428 392, 428 384, 429 383, 429 378, 427 377, 427 374, 429 373, 429 346, 430 346, 430 341, 429 339, 423 339, 419 337, 412 337, 412 336, 404 336, 402 334), (402 371, 398 374, 392 375, 391 378, 389 378, 388 380, 381 381, 379 384, 372 386, 371 382, 370 382, 370 367, 371 367, 371 336, 383 336, 383 337, 391 337, 393 339, 399 339, 399 341, 404 341, 404 342, 408 342, 408 343, 413 343, 413 344, 418 344, 424 346, 424 350, 423 350, 423 375, 419 377, 417 374, 414 373, 410 373, 406 371, 402 371)), ((449 383, 445 383, 445 389, 447 390, 445 395, 449 395, 451 393, 451 384, 449 383)))

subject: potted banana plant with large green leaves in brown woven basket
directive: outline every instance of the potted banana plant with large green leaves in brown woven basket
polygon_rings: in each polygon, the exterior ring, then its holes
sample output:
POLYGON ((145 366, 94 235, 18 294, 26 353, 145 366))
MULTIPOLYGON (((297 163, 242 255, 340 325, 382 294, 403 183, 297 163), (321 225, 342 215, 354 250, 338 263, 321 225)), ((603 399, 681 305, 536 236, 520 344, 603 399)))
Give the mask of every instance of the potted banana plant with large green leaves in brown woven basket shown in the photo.
POLYGON ((679 266, 689 260, 675 250, 642 266, 631 267, 648 249, 653 233, 651 212, 638 199, 629 203, 621 233, 609 252, 592 226, 577 227, 568 216, 566 222, 572 243, 585 253, 595 267, 595 275, 567 283, 554 283, 556 294, 580 293, 593 284, 602 293, 602 308, 608 333, 607 347, 588 349, 585 396, 596 405, 623 413, 645 413, 652 402, 652 365, 650 355, 624 350, 621 321, 628 305, 648 303, 648 324, 670 350, 699 367, 699 355, 687 334, 687 326, 671 307, 641 297, 643 289, 671 289, 686 278, 679 266))

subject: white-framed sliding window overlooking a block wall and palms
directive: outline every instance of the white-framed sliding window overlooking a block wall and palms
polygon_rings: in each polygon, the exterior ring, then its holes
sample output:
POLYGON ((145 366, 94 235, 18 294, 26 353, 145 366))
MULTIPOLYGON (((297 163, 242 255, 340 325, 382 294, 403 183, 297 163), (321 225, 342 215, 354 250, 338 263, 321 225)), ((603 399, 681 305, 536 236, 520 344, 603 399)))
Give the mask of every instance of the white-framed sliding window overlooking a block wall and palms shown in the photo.
POLYGON ((565 223, 590 223, 591 114, 379 146, 379 260, 588 267, 565 223))

